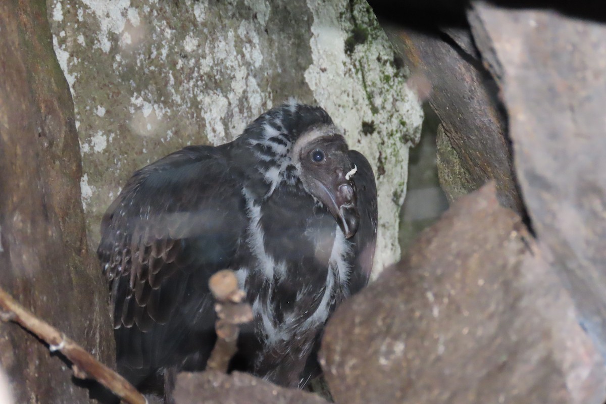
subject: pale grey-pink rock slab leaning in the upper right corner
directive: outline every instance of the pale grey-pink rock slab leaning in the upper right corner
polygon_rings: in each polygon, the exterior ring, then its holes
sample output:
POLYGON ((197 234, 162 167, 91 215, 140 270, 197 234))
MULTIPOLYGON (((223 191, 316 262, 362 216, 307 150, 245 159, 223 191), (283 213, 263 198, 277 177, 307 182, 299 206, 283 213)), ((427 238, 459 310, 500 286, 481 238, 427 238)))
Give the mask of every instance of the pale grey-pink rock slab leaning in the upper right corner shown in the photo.
MULTIPOLYGON (((603 10, 587 16, 596 15, 603 10)), ((553 259, 606 357, 606 26, 484 3, 475 5, 470 22, 502 87, 516 171, 542 254, 553 259)))

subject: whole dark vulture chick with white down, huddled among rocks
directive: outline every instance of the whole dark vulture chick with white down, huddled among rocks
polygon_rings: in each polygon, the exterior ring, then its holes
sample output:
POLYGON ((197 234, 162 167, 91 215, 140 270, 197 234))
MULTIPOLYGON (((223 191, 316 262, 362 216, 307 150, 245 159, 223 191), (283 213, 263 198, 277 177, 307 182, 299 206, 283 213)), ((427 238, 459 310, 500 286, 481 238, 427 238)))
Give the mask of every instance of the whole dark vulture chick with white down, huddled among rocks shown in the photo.
POLYGON ((301 104, 137 171, 98 250, 119 371, 141 386, 163 369, 203 369, 216 338, 208 278, 230 268, 255 316, 233 367, 304 385, 328 316, 368 282, 376 197, 365 157, 326 111, 301 104))

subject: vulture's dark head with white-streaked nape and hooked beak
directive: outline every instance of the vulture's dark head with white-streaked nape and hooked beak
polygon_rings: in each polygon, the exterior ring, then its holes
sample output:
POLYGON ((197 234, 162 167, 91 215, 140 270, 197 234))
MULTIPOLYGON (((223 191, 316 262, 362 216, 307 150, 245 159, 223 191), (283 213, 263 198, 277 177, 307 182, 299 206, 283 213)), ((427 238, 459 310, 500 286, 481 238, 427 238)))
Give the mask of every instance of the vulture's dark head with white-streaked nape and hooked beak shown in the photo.
POLYGON ((291 103, 260 116, 244 132, 267 185, 302 187, 335 217, 345 237, 358 230, 355 172, 341 131, 319 107, 291 103))

